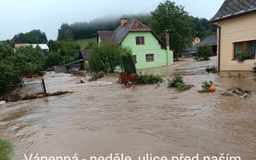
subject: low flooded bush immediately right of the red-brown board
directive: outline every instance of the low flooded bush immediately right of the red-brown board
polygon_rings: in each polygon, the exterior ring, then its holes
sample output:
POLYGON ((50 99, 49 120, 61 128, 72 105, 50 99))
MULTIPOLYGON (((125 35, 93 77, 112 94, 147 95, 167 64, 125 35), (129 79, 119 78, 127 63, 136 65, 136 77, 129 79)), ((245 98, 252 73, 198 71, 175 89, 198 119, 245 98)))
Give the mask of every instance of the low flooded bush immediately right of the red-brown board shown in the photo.
POLYGON ((139 72, 139 74, 136 74, 134 79, 134 84, 155 84, 155 83, 161 83, 162 78, 158 75, 153 74, 142 74, 142 72, 139 72))

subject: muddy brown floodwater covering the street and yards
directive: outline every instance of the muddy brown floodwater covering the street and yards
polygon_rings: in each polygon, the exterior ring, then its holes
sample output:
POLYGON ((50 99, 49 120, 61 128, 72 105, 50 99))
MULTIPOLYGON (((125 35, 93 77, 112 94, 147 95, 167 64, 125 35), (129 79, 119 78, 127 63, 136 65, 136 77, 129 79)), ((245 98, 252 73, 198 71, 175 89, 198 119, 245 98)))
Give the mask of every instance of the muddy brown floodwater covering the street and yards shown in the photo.
MULTIPOLYGON (((125 154, 138 159, 146 153, 166 156, 230 154, 256 159, 256 75, 252 72, 206 74, 210 62, 192 59, 142 72, 172 78, 182 74, 190 90, 178 93, 166 83, 118 84, 115 75, 97 82, 77 83, 70 74, 47 73, 48 92, 74 91, 56 97, 0 106, 0 138, 14 143, 14 160, 24 154, 90 156, 125 154), (244 78, 227 78, 241 73, 244 78), (213 81, 216 92, 199 94, 202 82, 213 81), (251 90, 250 98, 225 97, 231 86, 251 90)), ((166 81, 167 82, 167 81, 166 81)))

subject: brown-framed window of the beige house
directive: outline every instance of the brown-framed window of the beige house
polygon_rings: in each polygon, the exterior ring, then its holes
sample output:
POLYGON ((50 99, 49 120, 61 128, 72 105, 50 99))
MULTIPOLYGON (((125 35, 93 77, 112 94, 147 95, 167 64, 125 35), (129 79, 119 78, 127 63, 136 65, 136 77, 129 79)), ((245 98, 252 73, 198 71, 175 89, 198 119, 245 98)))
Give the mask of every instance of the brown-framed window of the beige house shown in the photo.
POLYGON ((235 42, 234 58, 236 58, 238 54, 244 54, 248 58, 255 58, 256 40, 246 42, 235 42))

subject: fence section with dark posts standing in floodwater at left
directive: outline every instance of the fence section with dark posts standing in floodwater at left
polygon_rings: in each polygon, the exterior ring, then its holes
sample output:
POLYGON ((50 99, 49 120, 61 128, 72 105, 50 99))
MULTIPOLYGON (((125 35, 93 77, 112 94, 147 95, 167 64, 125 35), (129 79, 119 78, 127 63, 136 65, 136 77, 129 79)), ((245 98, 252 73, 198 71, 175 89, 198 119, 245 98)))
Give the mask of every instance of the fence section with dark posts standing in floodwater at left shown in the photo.
POLYGON ((46 85, 44 79, 38 80, 38 82, 26 83, 22 82, 22 93, 26 94, 38 94, 46 93, 46 85))

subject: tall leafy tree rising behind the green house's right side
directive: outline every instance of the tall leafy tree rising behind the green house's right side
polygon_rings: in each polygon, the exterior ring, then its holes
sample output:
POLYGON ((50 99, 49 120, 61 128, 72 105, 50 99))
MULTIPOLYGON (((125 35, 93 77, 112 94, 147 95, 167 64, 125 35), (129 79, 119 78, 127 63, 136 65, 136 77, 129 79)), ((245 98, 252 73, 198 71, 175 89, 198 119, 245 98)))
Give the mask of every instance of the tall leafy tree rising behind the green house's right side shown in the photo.
POLYGON ((151 15, 151 29, 162 39, 165 39, 165 32, 169 30, 170 48, 174 49, 174 58, 181 57, 186 46, 191 45, 194 28, 184 6, 175 6, 174 2, 167 0, 160 3, 151 15))

